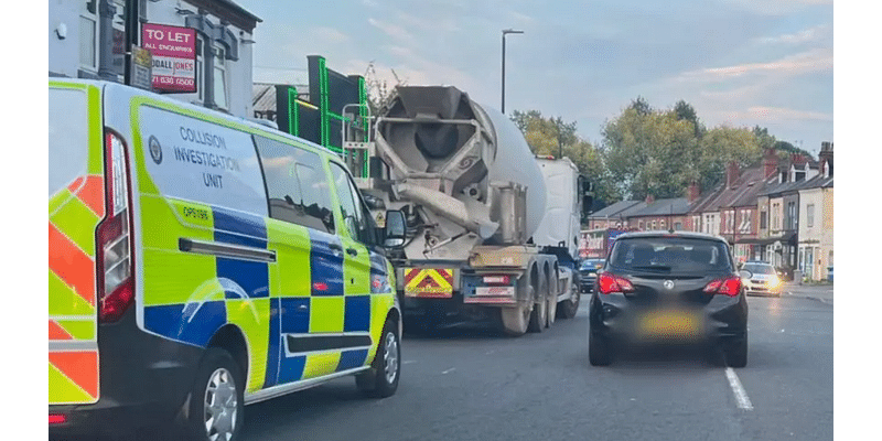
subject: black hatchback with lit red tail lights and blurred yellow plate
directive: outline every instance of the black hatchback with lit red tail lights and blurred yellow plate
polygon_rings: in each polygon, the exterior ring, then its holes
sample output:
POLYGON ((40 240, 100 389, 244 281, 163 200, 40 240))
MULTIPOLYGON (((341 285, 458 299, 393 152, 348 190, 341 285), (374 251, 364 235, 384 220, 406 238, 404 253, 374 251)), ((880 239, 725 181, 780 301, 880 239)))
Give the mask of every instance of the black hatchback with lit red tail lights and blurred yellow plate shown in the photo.
POLYGON ((711 343, 729 366, 745 366, 747 300, 729 244, 700 233, 619 236, 591 295, 591 364, 610 364, 627 343, 711 343))

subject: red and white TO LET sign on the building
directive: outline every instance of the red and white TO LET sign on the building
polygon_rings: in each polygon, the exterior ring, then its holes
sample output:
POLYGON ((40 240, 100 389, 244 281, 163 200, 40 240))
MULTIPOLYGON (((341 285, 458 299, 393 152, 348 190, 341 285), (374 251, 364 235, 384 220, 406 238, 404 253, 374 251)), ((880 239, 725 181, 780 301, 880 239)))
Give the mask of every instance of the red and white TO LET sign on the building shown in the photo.
POLYGON ((153 90, 196 92, 196 30, 144 23, 141 44, 153 55, 153 90))

